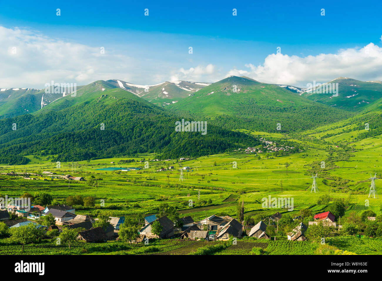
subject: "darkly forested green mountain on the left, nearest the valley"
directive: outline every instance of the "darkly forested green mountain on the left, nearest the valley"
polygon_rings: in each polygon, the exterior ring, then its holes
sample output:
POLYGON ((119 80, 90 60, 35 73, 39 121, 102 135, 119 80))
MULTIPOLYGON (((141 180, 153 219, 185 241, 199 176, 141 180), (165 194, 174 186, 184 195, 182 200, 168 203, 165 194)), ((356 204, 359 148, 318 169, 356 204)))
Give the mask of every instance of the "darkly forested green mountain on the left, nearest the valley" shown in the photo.
POLYGON ((159 158, 199 157, 260 143, 211 123, 205 135, 176 132, 180 117, 112 87, 96 81, 81 87, 76 96, 66 95, 34 114, 0 120, 0 163, 24 164, 28 162, 24 155, 33 153, 55 155, 52 161, 144 152, 157 153, 159 158))

